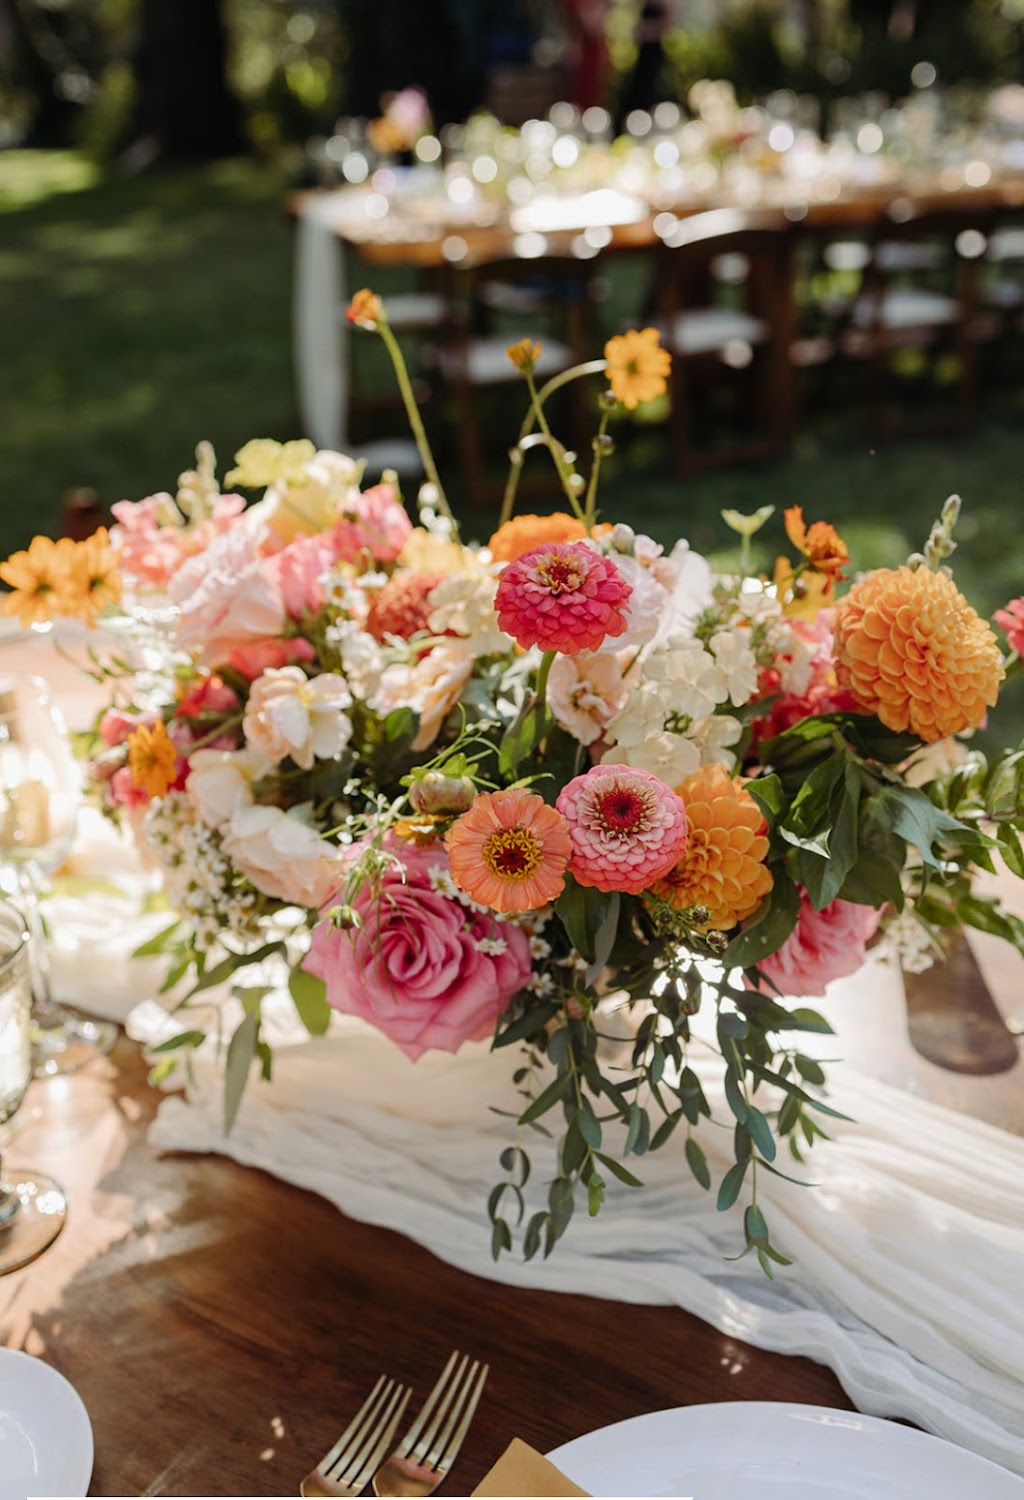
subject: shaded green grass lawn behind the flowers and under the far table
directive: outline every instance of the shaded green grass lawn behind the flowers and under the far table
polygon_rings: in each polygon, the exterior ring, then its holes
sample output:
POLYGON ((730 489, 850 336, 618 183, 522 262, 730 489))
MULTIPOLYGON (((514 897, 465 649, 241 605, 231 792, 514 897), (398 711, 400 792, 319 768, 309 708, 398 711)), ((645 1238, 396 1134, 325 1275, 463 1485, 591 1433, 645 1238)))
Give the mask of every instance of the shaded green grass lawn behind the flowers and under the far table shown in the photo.
MULTIPOLYGON (((139 498, 172 490, 199 438, 226 468, 250 436, 298 435, 286 186, 283 170, 256 162, 127 180, 64 154, 0 154, 1 552, 51 530, 72 486, 91 486, 103 504, 139 498)), ((373 280, 387 292, 396 276, 373 280)), ((606 332, 630 318, 639 291, 636 273, 613 272, 606 332)), ((372 382, 379 366, 369 344, 358 358, 372 382)), ((793 456, 772 468, 682 483, 664 428, 634 428, 607 462, 604 514, 661 542, 687 536, 721 552, 732 536, 723 507, 802 504, 808 520, 840 528, 855 566, 870 567, 919 548, 946 495, 958 492, 957 578, 990 614, 1024 592, 1021 368, 1017 360, 990 374, 970 440, 873 452, 856 370, 835 382, 831 405, 808 402, 793 456)), ((495 454, 514 438, 520 410, 505 399, 484 408, 495 454)), ((444 400, 429 417, 454 476, 444 400)), ((531 472, 543 472, 543 454, 531 472)), ((451 489, 457 498, 457 476, 451 489)), ((553 486, 549 500, 558 502, 553 486)), ((493 514, 468 519, 486 536, 493 514)), ((784 544, 781 516, 765 536, 771 561, 784 544)), ((1024 728, 1020 698, 1008 693, 1008 720, 1024 728)))

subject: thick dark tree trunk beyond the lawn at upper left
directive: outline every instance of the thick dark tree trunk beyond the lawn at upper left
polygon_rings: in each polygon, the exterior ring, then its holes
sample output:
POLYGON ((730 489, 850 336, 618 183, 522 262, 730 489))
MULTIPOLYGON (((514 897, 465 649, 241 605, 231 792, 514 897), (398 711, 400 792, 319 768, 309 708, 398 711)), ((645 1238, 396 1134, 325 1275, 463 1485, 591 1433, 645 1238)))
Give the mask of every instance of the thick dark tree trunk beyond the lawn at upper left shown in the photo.
POLYGON ((222 0, 141 0, 139 27, 133 150, 160 160, 243 152, 222 0))

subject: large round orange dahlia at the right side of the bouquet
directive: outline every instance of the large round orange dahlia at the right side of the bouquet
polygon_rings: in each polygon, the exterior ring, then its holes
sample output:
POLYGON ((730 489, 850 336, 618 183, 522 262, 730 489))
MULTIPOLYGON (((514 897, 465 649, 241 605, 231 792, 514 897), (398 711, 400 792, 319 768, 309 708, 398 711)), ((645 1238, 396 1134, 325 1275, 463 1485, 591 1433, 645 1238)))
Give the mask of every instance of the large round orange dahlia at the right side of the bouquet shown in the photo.
POLYGON ((996 636, 946 573, 876 568, 832 621, 835 675, 889 729, 945 740, 976 729, 1003 680, 996 636))

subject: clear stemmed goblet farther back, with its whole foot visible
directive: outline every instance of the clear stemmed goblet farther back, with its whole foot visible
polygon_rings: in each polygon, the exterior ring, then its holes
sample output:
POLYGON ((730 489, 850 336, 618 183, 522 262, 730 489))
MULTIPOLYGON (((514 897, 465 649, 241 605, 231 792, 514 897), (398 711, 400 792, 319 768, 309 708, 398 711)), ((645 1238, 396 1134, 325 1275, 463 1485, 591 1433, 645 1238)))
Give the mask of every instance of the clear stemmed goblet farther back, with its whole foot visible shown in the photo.
POLYGON ((70 852, 79 802, 78 764, 49 687, 28 674, 0 675, 0 878, 28 926, 37 1076, 70 1072, 117 1036, 108 1022, 57 1005, 49 990, 39 892, 70 852))

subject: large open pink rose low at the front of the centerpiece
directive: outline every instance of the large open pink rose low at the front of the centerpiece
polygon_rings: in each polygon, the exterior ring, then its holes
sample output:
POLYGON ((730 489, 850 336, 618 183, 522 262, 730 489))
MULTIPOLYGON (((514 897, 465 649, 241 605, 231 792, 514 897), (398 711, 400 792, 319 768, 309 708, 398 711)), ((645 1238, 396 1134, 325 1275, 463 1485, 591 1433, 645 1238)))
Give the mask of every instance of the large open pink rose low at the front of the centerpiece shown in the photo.
POLYGON ((403 870, 390 866, 379 886, 355 897, 358 928, 319 922, 303 968, 324 980, 328 1005, 370 1022, 415 1062, 493 1032, 529 980, 529 942, 513 922, 438 890, 432 872, 448 873, 441 844, 394 840, 390 849, 403 870))

